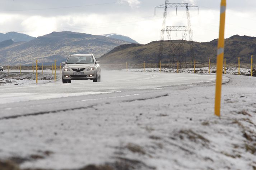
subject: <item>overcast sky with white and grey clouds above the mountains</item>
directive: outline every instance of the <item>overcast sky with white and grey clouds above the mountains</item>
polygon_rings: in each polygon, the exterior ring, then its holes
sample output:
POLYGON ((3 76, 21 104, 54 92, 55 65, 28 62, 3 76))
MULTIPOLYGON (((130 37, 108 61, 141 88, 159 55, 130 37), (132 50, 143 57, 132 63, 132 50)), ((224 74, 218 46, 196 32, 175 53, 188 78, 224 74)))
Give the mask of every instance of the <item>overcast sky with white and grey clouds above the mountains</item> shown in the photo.
MULTIPOLYGON (((141 44, 160 40, 165 0, 1 0, 0 32, 15 31, 42 36, 52 31, 74 31, 93 35, 117 33, 141 44)), ((211 41, 219 34, 220 0, 169 0, 190 3, 193 40, 211 41)), ((227 0, 225 38, 256 36, 256 0, 227 0)), ((169 8, 166 26, 187 26, 186 9, 169 8)), ((172 39, 181 33, 172 32, 172 39)), ((167 35, 165 35, 167 39, 167 35)), ((187 37, 188 39, 188 37, 187 37)))

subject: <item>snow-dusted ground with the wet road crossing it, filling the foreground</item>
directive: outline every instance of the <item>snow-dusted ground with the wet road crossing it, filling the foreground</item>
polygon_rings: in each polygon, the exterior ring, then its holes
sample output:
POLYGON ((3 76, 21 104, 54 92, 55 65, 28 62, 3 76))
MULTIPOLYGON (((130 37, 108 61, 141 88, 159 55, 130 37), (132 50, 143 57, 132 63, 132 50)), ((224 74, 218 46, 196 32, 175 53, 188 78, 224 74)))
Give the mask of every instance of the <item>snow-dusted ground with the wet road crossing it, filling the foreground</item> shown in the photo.
POLYGON ((223 76, 221 118, 214 81, 103 70, 0 86, 0 169, 255 170, 256 77, 223 76))

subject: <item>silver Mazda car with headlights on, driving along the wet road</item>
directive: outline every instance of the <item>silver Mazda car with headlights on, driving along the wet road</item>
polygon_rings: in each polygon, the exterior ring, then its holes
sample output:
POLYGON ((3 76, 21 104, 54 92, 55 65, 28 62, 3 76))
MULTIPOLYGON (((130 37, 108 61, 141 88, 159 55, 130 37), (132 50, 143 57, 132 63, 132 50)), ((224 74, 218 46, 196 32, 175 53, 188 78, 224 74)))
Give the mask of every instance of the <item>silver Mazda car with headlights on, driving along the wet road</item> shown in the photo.
POLYGON ((62 83, 71 80, 101 81, 101 67, 93 54, 73 54, 68 57, 62 68, 62 83))

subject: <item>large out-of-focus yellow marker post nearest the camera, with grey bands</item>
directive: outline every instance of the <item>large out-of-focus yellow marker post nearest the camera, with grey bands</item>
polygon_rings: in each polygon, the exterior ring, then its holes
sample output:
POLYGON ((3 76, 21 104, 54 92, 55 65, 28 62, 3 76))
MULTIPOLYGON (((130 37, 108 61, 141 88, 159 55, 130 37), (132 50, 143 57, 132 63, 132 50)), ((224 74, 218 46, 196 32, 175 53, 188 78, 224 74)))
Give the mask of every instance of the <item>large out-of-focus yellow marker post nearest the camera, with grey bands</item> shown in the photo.
POLYGON ((224 31, 225 31, 226 0, 220 3, 220 27, 217 51, 216 89, 215 89, 215 115, 220 116, 220 99, 222 86, 222 69, 224 58, 224 31))

